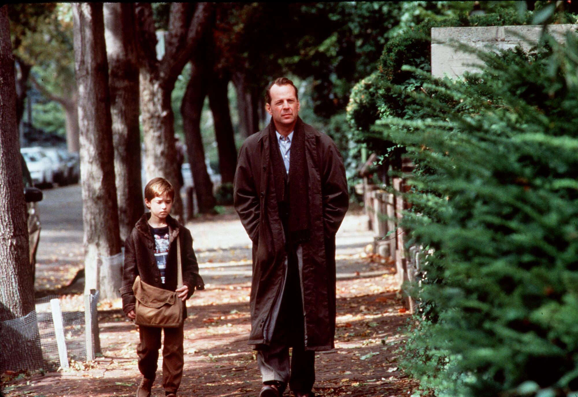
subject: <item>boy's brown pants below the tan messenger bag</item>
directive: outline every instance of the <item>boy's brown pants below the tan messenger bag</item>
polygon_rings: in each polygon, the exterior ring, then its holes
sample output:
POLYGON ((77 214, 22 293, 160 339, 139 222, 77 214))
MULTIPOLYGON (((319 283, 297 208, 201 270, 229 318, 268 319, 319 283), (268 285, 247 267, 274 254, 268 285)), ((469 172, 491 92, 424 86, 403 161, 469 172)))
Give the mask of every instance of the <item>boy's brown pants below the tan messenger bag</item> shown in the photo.
POLYGON ((176 394, 183 377, 183 324, 179 328, 140 326, 140 343, 136 346, 139 370, 146 379, 154 380, 158 350, 161 349, 161 329, 164 329, 165 334, 162 347, 162 385, 165 391, 176 394))

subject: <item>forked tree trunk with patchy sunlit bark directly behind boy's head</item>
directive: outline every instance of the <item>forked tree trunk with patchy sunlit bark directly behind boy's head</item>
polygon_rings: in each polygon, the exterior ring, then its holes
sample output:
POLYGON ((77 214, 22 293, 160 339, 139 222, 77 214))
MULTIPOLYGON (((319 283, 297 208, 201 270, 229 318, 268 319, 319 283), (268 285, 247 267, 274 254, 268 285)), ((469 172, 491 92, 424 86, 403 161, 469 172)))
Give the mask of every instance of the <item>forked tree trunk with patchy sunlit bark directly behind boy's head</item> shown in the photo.
POLYGON ((175 132, 171 92, 184 65, 191 59, 212 18, 212 3, 172 3, 165 54, 157 60, 153 10, 150 3, 136 3, 137 50, 140 62, 145 171, 147 179, 164 177, 175 187, 173 215, 183 216, 177 178, 175 132))

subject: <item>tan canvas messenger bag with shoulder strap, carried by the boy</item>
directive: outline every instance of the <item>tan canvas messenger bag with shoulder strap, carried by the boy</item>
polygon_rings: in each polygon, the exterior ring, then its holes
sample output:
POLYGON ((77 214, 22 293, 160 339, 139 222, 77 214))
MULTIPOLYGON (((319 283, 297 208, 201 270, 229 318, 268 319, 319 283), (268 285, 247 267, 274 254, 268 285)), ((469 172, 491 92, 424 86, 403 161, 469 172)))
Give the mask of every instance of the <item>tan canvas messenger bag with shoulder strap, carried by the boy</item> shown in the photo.
MULTIPOLYGON (((177 289, 183 286, 180 241, 177 235, 177 289)), ((164 290, 145 283, 136 276, 132 291, 135 294, 135 324, 146 327, 178 328, 183 323, 183 301, 175 291, 164 290)))

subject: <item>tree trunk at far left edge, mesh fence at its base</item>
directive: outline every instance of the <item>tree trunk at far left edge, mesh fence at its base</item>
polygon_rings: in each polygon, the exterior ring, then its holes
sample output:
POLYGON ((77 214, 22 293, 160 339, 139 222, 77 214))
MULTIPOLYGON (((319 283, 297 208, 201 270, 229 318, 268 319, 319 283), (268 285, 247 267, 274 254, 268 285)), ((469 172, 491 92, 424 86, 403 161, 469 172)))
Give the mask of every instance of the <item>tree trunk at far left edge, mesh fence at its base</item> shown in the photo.
MULTIPOLYGON (((14 58, 8 9, 0 7, 0 321, 29 313, 31 336, 0 323, 0 369, 38 368, 42 362, 38 325, 34 316, 34 281, 28 260, 28 230, 20 142, 16 117, 14 58)), ((24 325, 24 324, 18 324, 24 325)))

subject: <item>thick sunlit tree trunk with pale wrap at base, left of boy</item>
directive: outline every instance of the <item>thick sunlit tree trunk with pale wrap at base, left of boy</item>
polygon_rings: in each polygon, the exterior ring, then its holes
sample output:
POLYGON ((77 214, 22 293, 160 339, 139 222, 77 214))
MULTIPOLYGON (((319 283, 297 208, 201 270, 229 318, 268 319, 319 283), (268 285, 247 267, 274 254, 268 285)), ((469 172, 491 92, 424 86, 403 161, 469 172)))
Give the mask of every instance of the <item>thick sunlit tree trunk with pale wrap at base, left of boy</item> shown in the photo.
MULTIPOLYGON (((108 62, 102 3, 75 3, 75 72, 79 95, 80 171, 84 224, 84 292, 101 289, 101 280, 120 287, 120 278, 103 280, 102 258, 120 252, 118 207, 114 184, 114 152, 108 87, 108 62), (99 261, 100 259, 100 261, 99 261)), ((108 261, 106 261, 108 263, 108 261)), ((118 294, 118 293, 117 293, 118 294)), ((117 295, 115 294, 115 295, 117 295)))

